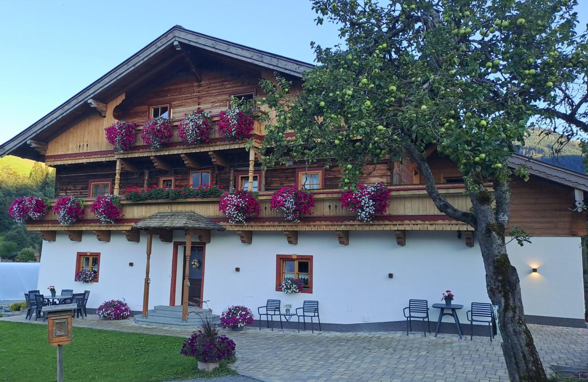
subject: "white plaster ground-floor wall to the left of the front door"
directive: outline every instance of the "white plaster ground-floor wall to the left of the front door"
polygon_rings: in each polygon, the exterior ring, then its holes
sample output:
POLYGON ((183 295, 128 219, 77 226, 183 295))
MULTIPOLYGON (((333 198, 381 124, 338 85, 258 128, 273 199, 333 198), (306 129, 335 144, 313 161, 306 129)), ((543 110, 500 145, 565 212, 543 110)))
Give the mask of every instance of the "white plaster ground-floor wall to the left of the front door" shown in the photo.
MULTIPOLYGON (((43 243, 38 289, 44 294, 49 294, 46 290, 49 285, 55 285, 57 293, 62 289, 74 289, 74 293, 89 290, 89 308, 96 308, 106 300, 125 299, 132 310, 142 310, 146 242, 143 232, 139 243, 129 242, 120 231, 112 232, 110 242, 99 242, 91 232, 84 232, 81 242, 72 242, 66 234, 58 232, 55 242, 43 243), (74 281, 78 252, 101 253, 98 283, 74 281)), ((162 243, 154 236, 149 309, 169 305, 172 251, 172 243, 162 243)))

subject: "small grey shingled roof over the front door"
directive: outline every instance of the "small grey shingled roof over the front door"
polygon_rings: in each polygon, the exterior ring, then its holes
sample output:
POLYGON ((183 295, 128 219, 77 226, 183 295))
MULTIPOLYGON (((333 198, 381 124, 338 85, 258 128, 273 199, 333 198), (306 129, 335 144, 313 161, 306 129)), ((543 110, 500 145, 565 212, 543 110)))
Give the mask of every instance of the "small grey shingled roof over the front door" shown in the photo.
POLYGON ((225 227, 195 212, 158 212, 136 223, 133 229, 206 229, 224 231, 225 227))

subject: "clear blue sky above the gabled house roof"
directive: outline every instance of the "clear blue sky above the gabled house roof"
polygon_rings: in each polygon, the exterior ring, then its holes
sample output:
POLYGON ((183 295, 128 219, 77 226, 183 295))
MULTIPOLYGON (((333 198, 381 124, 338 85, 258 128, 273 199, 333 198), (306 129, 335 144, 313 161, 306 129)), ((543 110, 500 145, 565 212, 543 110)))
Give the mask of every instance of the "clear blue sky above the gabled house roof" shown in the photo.
MULTIPOLYGON (((579 13, 585 30, 588 12, 579 13)), ((0 16, 0 142, 173 25, 312 62, 310 41, 339 42, 336 26, 315 16, 307 0, 12 2, 0 16)))

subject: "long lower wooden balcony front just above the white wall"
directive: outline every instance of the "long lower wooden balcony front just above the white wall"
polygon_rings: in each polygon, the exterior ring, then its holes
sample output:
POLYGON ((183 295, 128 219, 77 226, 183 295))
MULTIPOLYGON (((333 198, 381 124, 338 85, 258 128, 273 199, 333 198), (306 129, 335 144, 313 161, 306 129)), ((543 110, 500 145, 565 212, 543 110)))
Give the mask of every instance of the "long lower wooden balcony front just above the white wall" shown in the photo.
MULTIPOLYGON (((123 219, 115 224, 100 224, 89 212, 91 200, 86 200, 84 219, 72 226, 63 226, 56 220, 54 212, 49 212, 42 220, 27 225, 28 230, 68 231, 68 230, 129 230, 141 219, 156 212, 196 212, 218 222, 227 230, 472 230, 462 222, 457 222, 437 210, 421 185, 390 186, 390 205, 386 213, 376 216, 373 223, 363 223, 356 214, 344 209, 339 202, 339 190, 317 190, 314 193, 315 207, 311 216, 303 217, 300 223, 286 222, 282 214, 270 207, 272 192, 259 195, 259 217, 249 219, 247 224, 231 224, 218 210, 218 198, 199 199, 159 199, 131 202, 122 200, 123 219)), ((469 197, 463 195, 461 185, 440 185, 440 193, 450 203, 462 210, 469 210, 469 197)))

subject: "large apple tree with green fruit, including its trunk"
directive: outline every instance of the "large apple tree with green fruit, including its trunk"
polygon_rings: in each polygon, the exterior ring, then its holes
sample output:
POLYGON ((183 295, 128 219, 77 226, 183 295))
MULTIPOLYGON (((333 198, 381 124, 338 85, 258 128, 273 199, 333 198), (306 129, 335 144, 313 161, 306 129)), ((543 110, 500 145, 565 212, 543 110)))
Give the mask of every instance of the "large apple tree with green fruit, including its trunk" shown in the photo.
POLYGON ((299 92, 280 76, 261 83, 260 101, 272 110, 262 148, 267 166, 326 158, 342 166, 347 190, 364 163, 407 158, 419 167, 436 207, 475 229, 513 381, 547 378, 505 244, 513 235, 509 179, 528 175, 524 167, 510 169, 507 158, 532 123, 586 126, 587 45, 586 35, 574 32, 576 5, 314 0, 316 22, 338 24, 342 43, 311 44, 318 65, 305 73, 299 92), (437 191, 423 155, 432 145, 462 172, 472 210, 458 209, 437 191))

